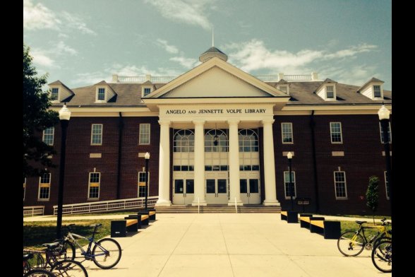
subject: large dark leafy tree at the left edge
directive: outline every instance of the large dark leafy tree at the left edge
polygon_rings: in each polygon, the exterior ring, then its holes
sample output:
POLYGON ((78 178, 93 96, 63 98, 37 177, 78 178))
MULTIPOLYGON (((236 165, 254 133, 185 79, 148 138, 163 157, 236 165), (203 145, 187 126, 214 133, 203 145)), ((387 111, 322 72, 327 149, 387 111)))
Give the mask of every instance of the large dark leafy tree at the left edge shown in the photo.
POLYGON ((56 152, 39 134, 59 122, 58 113, 48 110, 51 105, 49 93, 42 91, 47 75, 37 76, 29 50, 23 44, 23 178, 40 176, 45 167, 54 166, 47 157, 56 152))

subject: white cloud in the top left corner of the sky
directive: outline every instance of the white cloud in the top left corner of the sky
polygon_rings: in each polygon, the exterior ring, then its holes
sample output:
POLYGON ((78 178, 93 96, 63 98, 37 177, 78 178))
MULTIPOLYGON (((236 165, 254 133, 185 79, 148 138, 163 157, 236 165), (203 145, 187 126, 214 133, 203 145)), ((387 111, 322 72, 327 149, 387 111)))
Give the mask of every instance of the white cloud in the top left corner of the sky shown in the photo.
MULTIPOLYGON (((23 1, 23 29, 41 30, 52 29, 64 31, 66 28, 79 30, 81 33, 96 35, 96 33, 87 27, 81 18, 66 11, 59 12, 59 18, 56 11, 52 11, 42 4, 33 4, 32 0, 23 1)), ((60 33, 60 36, 66 34, 60 33)), ((67 35, 66 35, 67 36, 67 35)))

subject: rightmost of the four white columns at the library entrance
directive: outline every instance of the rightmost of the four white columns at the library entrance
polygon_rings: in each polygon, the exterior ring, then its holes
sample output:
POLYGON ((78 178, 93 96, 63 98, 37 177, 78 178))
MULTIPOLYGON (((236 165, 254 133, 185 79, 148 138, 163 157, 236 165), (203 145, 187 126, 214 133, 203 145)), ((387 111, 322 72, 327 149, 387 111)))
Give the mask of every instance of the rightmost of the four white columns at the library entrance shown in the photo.
POLYGON ((272 135, 272 123, 274 119, 263 120, 264 129, 264 179, 265 179, 265 206, 280 206, 277 200, 277 188, 275 187, 275 160, 274 137, 272 135))

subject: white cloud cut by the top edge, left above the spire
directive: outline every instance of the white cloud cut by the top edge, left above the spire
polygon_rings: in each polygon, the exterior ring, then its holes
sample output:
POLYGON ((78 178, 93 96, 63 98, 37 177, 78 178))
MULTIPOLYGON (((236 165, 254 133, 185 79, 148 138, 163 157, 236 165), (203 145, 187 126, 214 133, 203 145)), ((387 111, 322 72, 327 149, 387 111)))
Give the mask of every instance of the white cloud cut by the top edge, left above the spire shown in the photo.
POLYGON ((199 25, 205 30, 212 28, 212 23, 206 14, 208 8, 215 9, 212 5, 215 0, 145 0, 145 2, 155 6, 164 18, 199 25))

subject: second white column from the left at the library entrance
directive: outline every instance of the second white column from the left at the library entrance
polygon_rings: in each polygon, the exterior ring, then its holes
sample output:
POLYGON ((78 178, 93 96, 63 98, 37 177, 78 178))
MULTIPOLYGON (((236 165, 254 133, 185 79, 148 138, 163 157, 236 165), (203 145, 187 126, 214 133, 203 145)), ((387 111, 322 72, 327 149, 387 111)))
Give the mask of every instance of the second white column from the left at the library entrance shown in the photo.
POLYGON ((205 200, 205 129, 204 120, 194 121, 195 124, 195 194, 192 206, 206 206, 205 200))

